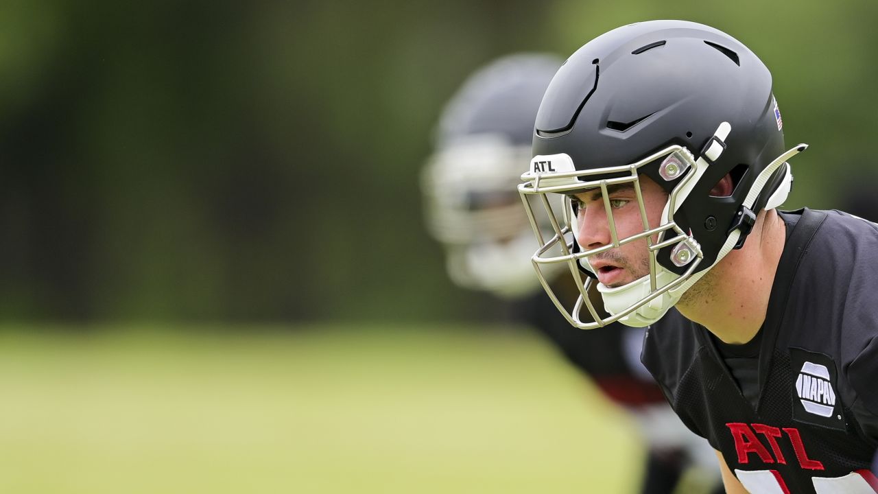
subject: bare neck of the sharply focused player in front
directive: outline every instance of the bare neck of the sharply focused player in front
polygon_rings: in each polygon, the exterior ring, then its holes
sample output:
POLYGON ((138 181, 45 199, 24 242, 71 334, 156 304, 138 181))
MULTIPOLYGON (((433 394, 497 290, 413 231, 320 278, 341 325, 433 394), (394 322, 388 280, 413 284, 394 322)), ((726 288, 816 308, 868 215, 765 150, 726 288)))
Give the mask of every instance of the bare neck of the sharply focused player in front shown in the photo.
POLYGON ((761 213, 744 247, 695 283, 677 309, 725 343, 750 341, 765 321, 785 241, 781 217, 774 210, 761 213))

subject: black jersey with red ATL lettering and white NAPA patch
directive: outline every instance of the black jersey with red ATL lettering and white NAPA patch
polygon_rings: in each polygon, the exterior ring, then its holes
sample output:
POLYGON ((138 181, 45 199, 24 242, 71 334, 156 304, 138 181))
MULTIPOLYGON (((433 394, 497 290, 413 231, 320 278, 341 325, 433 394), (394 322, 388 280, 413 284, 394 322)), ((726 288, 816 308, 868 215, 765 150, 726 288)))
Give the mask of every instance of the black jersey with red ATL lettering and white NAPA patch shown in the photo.
POLYGON ((792 231, 760 329, 756 400, 675 309, 647 331, 644 365, 752 494, 878 492, 878 227, 838 211, 781 217, 792 231))

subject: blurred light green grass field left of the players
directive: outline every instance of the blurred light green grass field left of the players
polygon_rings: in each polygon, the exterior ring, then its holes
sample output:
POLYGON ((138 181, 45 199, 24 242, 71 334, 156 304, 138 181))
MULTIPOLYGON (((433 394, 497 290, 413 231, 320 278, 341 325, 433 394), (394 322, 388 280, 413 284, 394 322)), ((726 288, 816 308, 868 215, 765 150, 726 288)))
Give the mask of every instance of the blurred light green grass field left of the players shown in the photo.
POLYGON ((615 493, 640 476, 633 425, 527 331, 7 327, 0 390, 0 492, 615 493))

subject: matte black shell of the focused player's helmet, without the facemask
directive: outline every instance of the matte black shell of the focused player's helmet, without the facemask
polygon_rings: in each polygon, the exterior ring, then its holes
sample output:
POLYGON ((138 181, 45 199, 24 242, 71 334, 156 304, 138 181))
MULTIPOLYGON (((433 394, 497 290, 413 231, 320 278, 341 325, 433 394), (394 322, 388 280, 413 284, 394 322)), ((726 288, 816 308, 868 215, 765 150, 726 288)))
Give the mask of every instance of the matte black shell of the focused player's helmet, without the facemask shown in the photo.
MULTIPOLYGON (((701 244, 703 269, 714 264, 759 171, 784 150, 771 73, 738 40, 707 25, 657 20, 589 41, 558 69, 543 97, 533 155, 565 153, 580 171, 635 163, 674 144, 698 157, 722 122, 731 126, 725 150, 673 216, 701 244), (710 195, 727 174, 735 181, 731 195, 710 195)), ((680 180, 666 181, 658 169, 651 163, 642 171, 670 193, 680 180)), ((754 212, 781 177, 782 169, 754 212)), ((659 263, 680 273, 670 249, 659 252, 659 263)))

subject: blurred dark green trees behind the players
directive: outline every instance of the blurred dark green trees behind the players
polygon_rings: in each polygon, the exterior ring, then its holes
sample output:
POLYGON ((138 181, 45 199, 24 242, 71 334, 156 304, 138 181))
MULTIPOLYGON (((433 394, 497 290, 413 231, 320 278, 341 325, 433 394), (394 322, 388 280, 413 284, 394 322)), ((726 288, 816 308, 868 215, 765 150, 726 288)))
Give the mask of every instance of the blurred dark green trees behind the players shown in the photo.
POLYGON ((444 100, 515 51, 687 18, 774 72, 789 206, 839 200, 867 143, 878 4, 106 0, 0 5, 0 317, 479 313, 421 227, 444 100))

